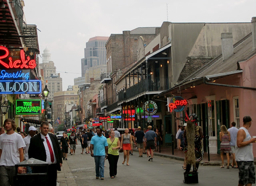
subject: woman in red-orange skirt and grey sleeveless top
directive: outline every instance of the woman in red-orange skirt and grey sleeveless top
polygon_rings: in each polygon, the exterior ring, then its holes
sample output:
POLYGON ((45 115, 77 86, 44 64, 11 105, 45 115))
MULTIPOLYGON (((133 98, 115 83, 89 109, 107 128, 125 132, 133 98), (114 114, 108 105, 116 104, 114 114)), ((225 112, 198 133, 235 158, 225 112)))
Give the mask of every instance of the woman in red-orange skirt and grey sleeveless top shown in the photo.
POLYGON ((132 149, 132 136, 129 133, 129 129, 125 129, 124 134, 122 134, 122 138, 121 138, 121 147, 120 149, 124 150, 124 161, 122 162, 122 164, 125 163, 126 160, 126 165, 130 165, 129 164, 129 158, 130 158, 130 150, 132 149))

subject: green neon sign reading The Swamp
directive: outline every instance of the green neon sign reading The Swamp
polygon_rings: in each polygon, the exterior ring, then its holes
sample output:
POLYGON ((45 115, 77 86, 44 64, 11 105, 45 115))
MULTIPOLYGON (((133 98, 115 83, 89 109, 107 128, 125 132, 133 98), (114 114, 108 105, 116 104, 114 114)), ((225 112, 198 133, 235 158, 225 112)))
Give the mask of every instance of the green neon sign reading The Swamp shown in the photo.
POLYGON ((35 115, 41 113, 40 99, 17 99, 16 115, 35 115))

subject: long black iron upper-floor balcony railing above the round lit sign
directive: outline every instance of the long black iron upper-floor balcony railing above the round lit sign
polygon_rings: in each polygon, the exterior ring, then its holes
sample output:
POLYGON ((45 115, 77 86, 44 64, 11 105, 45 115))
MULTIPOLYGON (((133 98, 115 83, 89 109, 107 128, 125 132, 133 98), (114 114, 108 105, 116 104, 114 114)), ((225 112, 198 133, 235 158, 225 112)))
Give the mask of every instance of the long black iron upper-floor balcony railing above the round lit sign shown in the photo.
POLYGON ((118 101, 132 98, 145 91, 165 91, 171 87, 171 77, 154 77, 149 79, 144 79, 132 87, 126 89, 126 94, 124 91, 118 93, 118 101))

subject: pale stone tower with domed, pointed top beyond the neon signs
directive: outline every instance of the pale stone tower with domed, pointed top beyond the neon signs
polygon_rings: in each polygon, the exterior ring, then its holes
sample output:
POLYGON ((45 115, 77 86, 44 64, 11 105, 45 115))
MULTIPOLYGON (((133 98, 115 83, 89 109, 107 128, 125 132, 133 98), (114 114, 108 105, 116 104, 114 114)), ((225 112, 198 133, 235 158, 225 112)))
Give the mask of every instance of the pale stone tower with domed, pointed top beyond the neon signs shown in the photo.
POLYGON ((53 100, 53 94, 62 91, 62 78, 60 73, 56 73, 56 67, 54 62, 51 61, 51 53, 47 47, 44 49, 42 58, 42 63, 39 63, 39 74, 44 77, 44 85, 46 80, 48 81, 47 87, 50 91, 48 100, 53 100))

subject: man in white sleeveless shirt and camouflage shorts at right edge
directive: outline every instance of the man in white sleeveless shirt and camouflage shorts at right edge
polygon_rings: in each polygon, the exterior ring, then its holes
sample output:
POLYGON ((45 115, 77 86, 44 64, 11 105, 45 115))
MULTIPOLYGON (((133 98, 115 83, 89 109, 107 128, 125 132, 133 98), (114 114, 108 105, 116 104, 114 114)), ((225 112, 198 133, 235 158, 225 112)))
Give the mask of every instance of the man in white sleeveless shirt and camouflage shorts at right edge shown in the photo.
POLYGON ((251 186, 255 184, 254 157, 252 153, 252 143, 256 138, 252 138, 248 129, 252 125, 252 118, 243 118, 243 127, 238 130, 236 138, 236 162, 239 168, 238 186, 251 186))

